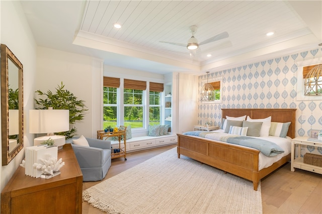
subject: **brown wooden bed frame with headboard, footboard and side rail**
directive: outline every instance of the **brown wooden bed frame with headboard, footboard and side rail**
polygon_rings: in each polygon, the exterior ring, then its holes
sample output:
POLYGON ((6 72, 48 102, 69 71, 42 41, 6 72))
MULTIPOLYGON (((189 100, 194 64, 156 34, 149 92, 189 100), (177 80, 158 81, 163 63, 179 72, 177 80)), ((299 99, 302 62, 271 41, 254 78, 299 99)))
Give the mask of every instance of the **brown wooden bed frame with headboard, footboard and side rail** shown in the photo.
MULTIPOLYGON (((239 117, 248 115, 252 119, 261 119, 271 116, 272 122, 291 122, 287 136, 295 137, 296 109, 221 109, 222 118, 226 116, 239 117)), ((221 169, 225 172, 253 181, 254 190, 257 190, 259 181, 290 161, 290 154, 267 168, 258 170, 259 150, 239 147, 209 139, 201 139, 188 135, 178 135, 178 158, 188 156, 202 163, 221 169)))

